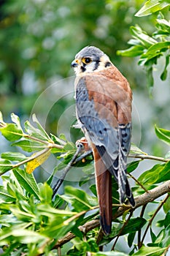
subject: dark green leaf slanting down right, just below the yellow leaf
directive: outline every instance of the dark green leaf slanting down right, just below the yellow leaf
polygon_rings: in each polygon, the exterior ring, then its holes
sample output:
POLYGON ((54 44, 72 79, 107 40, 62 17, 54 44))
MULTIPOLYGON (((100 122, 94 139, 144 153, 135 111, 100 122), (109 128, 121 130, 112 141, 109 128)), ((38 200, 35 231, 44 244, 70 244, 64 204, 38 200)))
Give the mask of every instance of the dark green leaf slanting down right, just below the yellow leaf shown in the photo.
POLYGON ((39 198, 39 187, 36 184, 36 180, 33 174, 28 174, 26 171, 18 169, 13 170, 15 177, 18 179, 20 185, 26 189, 26 192, 33 194, 37 199, 39 198))

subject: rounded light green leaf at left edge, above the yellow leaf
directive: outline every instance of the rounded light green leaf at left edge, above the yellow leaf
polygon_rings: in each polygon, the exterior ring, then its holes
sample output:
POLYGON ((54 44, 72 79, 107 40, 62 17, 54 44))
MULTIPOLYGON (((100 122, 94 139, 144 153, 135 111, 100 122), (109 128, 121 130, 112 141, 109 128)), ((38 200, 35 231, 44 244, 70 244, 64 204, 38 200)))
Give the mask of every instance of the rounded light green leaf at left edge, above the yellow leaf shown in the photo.
POLYGON ((7 124, 6 127, 0 127, 1 134, 9 141, 20 140, 23 137, 22 129, 16 124, 7 124))

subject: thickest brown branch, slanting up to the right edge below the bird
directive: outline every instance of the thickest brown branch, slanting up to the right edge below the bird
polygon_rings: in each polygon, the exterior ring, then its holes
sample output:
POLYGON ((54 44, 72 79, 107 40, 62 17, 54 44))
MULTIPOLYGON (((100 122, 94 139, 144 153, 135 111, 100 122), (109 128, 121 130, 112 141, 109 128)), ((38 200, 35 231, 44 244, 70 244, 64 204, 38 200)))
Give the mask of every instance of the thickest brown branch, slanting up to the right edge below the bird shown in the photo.
MULTIPOLYGON (((136 197, 135 198, 136 205, 134 209, 139 208, 139 206, 144 206, 145 204, 152 202, 158 197, 161 197, 161 195, 165 195, 167 192, 170 192, 170 181, 166 181, 160 186, 155 187, 154 189, 151 189, 147 193, 144 193, 143 195, 136 197)), ((131 208, 130 205, 128 206, 129 208, 131 208)), ((115 213, 112 219, 116 219, 117 217, 122 216, 125 211, 127 211, 127 206, 120 206, 120 208, 118 208, 117 212, 115 213)), ((80 231, 83 230, 83 233, 88 233, 90 230, 93 230, 99 225, 100 225, 99 220, 93 219, 90 222, 85 223, 85 225, 80 226, 79 229, 80 231)), ((64 236, 63 238, 57 241, 57 243, 54 246, 54 249, 57 249, 59 246, 62 246, 63 244, 66 244, 67 242, 72 240, 72 238, 74 237, 75 235, 73 233, 71 232, 67 233, 66 236, 64 236)))

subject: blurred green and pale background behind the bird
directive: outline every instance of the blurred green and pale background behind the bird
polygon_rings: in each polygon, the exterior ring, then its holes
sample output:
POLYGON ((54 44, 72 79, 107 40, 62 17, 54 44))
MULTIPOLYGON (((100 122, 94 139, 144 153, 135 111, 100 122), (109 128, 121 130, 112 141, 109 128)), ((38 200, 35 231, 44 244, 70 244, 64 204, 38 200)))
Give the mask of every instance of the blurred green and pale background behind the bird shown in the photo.
MULTIPOLYGON (((170 78, 165 82, 159 78, 163 59, 155 66, 150 99, 137 59, 116 55, 117 50, 128 48, 130 26, 138 23, 148 34, 154 31, 158 13, 134 16, 143 4, 141 0, 1 0, 0 110, 4 120, 9 121, 14 112, 24 122, 36 113, 47 132, 64 132, 73 142, 80 138, 81 132, 72 128, 74 72, 70 64, 81 48, 95 45, 131 83, 133 142, 148 154, 166 154, 166 146, 154 133, 154 124, 169 129, 170 78)), ((4 138, 0 140, 0 152, 14 150, 4 138)))

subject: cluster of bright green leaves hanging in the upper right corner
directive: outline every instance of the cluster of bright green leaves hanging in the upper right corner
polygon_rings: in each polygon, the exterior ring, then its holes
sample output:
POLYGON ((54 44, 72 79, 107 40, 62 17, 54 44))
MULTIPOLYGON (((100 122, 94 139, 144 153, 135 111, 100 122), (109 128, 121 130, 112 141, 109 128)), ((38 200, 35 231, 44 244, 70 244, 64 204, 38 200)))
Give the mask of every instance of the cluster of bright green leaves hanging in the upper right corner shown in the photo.
MULTIPOLYGON (((150 15, 153 12, 157 12, 158 10, 162 10, 169 6, 169 1, 149 0, 144 4, 144 7, 136 13, 136 16, 141 17, 150 15)), ((152 78, 154 64, 157 64, 158 59, 161 56, 165 58, 165 67, 161 74, 161 80, 166 80, 170 58, 170 22, 164 18, 161 12, 159 12, 158 18, 155 21, 156 30, 151 36, 149 36, 146 31, 142 30, 139 25, 131 26, 130 33, 133 39, 128 41, 131 48, 128 48, 127 50, 117 50, 117 54, 121 56, 140 56, 138 64, 144 66, 147 71, 147 86, 150 94, 152 93, 154 83, 152 78)))

